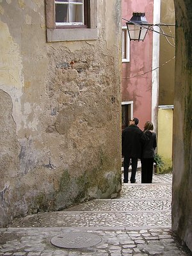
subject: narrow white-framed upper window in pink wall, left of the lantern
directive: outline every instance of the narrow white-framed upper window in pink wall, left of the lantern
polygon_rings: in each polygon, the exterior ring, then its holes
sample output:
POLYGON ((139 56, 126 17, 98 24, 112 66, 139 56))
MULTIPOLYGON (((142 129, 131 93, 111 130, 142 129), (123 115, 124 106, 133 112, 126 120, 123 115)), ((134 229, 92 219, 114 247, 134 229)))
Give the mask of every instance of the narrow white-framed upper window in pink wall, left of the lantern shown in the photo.
POLYGON ((127 27, 122 28, 122 62, 130 61, 130 39, 127 27))

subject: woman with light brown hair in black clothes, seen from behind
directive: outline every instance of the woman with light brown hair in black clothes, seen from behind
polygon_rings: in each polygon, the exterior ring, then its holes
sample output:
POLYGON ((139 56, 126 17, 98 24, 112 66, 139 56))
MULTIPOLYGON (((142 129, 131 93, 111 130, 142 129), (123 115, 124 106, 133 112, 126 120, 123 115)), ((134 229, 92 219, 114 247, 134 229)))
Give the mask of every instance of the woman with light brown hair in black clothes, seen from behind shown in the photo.
POLYGON ((144 125, 141 154, 141 183, 152 183, 155 149, 157 147, 156 133, 152 122, 144 125))

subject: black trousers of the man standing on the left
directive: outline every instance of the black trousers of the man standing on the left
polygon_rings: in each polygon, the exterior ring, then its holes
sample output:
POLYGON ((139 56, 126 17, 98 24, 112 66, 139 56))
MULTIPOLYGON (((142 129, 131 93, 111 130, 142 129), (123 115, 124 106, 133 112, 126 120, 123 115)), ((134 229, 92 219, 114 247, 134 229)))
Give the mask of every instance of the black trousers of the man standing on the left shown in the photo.
POLYGON ((124 156, 124 183, 127 183, 129 180, 129 165, 131 160, 131 183, 135 182, 136 170, 138 168, 138 158, 131 156, 124 156))

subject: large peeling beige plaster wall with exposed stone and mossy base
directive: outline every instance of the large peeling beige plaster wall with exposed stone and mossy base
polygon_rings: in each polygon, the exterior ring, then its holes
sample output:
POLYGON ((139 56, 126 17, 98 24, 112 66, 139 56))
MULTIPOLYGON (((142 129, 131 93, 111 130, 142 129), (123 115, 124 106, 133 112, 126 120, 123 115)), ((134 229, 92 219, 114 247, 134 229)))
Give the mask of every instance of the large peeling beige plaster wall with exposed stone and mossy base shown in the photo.
POLYGON ((97 2, 98 40, 47 43, 43 0, 0 1, 1 227, 121 189, 121 1, 97 2))

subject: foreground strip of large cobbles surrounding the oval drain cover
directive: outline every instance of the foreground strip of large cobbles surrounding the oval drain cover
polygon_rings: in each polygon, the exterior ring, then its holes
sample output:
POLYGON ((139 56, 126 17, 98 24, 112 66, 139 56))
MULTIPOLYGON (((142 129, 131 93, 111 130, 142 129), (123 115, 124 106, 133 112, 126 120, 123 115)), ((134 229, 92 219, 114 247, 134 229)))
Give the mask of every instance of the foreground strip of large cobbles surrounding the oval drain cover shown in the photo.
MULTIPOLYGON (((162 255, 189 256, 189 251, 180 246, 177 238, 168 228, 149 230, 86 230, 97 234, 102 241, 96 246, 84 249, 58 248, 51 244, 51 238, 58 234, 79 232, 83 228, 8 228, 0 230, 1 256, 124 256, 124 255, 162 255), (2 234, 4 240, 2 239, 2 234)), ((85 231, 84 231, 85 232, 85 231)))

